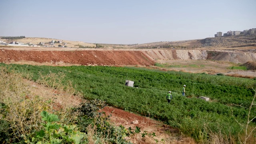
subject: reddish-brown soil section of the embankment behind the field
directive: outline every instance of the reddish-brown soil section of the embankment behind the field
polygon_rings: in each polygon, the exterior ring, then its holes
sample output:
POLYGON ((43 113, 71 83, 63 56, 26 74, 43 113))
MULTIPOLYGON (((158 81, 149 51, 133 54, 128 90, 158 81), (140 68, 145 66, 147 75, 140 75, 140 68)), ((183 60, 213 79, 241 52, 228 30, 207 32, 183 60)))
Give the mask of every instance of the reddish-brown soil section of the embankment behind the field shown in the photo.
POLYGON ((134 50, 77 50, 77 51, 39 51, 39 50, 0 50, 0 62, 34 61, 51 64, 80 65, 143 65, 154 64, 154 60, 141 51, 134 50))

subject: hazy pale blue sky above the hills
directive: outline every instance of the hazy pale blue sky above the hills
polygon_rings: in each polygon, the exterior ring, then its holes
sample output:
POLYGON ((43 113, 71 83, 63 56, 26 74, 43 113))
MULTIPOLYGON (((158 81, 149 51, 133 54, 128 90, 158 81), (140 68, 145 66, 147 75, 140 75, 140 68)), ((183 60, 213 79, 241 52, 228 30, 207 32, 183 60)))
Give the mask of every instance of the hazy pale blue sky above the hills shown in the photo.
POLYGON ((0 36, 142 44, 256 28, 256 0, 0 0, 0 36))

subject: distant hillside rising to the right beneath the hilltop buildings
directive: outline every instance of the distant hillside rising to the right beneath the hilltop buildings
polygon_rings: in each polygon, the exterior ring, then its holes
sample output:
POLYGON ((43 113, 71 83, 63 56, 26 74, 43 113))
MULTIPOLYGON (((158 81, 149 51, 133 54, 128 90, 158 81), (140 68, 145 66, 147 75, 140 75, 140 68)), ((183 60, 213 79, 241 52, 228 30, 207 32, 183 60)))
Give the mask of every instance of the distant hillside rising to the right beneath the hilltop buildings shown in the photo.
POLYGON ((146 44, 100 44, 112 48, 234 48, 254 46, 256 34, 229 36, 221 38, 204 38, 199 40, 182 40, 168 42, 152 42, 146 44))

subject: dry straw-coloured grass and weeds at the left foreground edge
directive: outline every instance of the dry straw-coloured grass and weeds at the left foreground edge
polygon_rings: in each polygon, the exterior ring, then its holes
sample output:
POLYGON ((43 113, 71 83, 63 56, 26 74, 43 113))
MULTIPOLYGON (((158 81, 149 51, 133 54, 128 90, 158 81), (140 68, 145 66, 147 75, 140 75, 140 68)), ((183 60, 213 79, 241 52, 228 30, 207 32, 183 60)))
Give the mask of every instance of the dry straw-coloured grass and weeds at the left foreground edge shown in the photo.
POLYGON ((10 123, 16 139, 27 140, 31 133, 42 128, 40 112, 43 110, 58 114, 62 123, 74 121, 76 114, 70 108, 79 104, 80 98, 73 96, 74 89, 70 85, 64 87, 58 83, 62 78, 58 74, 41 75, 38 82, 42 85, 39 85, 24 80, 22 74, 0 67, 0 103, 6 106, 6 112, 0 114, 0 119, 10 123), (49 84, 46 79, 55 88, 48 87, 45 90, 45 86, 49 84))

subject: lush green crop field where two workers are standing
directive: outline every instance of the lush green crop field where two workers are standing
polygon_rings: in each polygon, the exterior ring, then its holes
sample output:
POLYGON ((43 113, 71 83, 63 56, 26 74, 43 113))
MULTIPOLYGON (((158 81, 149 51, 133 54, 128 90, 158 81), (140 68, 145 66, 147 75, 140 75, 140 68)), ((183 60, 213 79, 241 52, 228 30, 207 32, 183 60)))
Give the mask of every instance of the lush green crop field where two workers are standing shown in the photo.
MULTIPOLYGON (((20 73, 30 73, 34 81, 39 77, 38 73, 62 72, 65 74, 63 84, 71 80, 84 98, 101 99, 108 105, 161 120, 201 143, 211 134, 232 136, 238 141, 255 94, 252 88, 256 88, 253 79, 205 73, 163 72, 136 67, 1 65, 20 73), (134 81, 134 88, 125 86, 125 80, 134 81), (186 97, 182 96, 184 84, 186 97), (170 104, 166 101, 168 91, 172 91, 170 104), (209 97, 210 102, 198 96, 209 97)), ((250 120, 255 116, 254 105, 250 120)), ((249 125, 255 127, 256 118, 249 125)))

